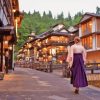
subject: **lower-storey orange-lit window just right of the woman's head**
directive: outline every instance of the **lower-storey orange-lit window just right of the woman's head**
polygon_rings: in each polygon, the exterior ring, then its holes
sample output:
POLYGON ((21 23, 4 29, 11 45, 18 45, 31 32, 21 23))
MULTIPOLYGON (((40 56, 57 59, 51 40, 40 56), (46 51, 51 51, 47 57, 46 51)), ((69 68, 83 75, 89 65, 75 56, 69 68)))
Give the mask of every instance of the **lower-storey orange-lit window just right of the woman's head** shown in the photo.
POLYGON ((82 45, 86 49, 92 49, 93 48, 93 38, 92 36, 88 36, 82 39, 82 45))

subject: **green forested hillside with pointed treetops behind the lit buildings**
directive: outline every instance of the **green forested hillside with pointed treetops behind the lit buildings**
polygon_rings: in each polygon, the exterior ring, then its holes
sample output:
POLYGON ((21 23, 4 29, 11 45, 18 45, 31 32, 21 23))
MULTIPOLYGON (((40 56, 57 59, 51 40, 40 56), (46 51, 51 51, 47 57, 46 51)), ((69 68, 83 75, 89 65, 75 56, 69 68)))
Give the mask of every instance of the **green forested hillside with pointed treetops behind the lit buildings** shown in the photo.
POLYGON ((24 12, 24 19, 22 21, 21 27, 18 30, 20 37, 18 39, 18 43, 16 46, 16 51, 24 44, 27 39, 27 36, 34 31, 36 35, 41 34, 47 31, 51 26, 63 23, 66 27, 77 24, 82 16, 82 12, 78 12, 74 17, 71 17, 70 13, 68 13, 68 17, 64 18, 63 12, 57 16, 57 18, 53 18, 52 12, 49 11, 48 14, 43 12, 43 16, 40 15, 39 11, 35 11, 33 13, 24 12))

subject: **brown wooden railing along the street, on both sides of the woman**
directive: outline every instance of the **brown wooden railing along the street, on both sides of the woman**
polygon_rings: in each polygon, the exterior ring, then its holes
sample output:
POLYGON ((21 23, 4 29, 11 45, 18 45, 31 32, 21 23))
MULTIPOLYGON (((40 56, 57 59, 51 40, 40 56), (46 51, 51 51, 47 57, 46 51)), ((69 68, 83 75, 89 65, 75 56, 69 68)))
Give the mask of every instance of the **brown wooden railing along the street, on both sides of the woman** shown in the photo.
MULTIPOLYGON (((68 64, 67 63, 62 63, 62 64, 54 64, 52 62, 48 63, 43 63, 43 62, 24 62, 24 63, 19 63, 17 64, 18 67, 23 67, 23 68, 32 68, 36 69, 39 71, 44 71, 44 72, 53 72, 53 71, 60 71, 63 77, 69 77, 68 76, 68 64)), ((85 69, 88 71, 91 71, 91 74, 95 73, 100 73, 100 63, 92 62, 92 63, 87 63, 85 66, 85 69)))

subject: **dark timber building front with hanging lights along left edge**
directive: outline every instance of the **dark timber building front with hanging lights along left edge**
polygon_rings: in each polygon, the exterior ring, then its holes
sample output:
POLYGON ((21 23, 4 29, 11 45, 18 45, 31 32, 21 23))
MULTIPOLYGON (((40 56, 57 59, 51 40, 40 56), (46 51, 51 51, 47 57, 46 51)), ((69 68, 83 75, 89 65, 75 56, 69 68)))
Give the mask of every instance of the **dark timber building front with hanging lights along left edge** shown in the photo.
POLYGON ((13 68, 14 44, 22 14, 18 0, 0 0, 0 71, 13 68))

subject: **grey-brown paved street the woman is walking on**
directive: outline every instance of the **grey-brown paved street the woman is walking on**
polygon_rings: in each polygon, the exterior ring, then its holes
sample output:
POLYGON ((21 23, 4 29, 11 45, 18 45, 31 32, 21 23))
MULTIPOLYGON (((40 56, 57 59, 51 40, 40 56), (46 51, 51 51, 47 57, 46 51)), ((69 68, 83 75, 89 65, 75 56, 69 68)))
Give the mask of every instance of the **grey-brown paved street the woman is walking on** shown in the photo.
POLYGON ((0 100, 100 100, 100 90, 89 86, 76 95, 67 78, 29 68, 15 68, 0 80, 0 100))

